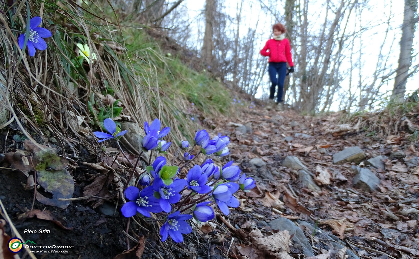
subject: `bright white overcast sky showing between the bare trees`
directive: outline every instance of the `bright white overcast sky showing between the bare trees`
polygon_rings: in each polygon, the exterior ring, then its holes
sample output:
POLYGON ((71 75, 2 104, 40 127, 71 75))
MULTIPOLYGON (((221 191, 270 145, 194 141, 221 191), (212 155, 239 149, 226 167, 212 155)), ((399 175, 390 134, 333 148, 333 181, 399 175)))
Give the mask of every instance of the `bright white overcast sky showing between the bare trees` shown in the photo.
MULTIPOLYGON (((235 11, 237 3, 240 0, 225 0, 225 6, 226 9, 230 10, 230 16, 235 17, 235 11), (230 6, 230 8, 229 8, 230 6)), ((280 2, 280 1, 278 1, 280 2)), ((285 1, 282 1, 285 3, 285 1)), ((310 3, 316 2, 316 0, 310 1, 310 3)), ((317 1, 318 3, 324 3, 323 1, 317 1)), ((243 11, 242 11, 242 21, 243 25, 241 26, 241 31, 243 33, 247 32, 247 28, 251 27, 254 28, 257 19, 259 18, 259 25, 258 29, 260 31, 266 30, 266 39, 261 41, 259 43, 260 48, 264 46, 264 43, 269 37, 271 36, 271 26, 274 21, 271 17, 266 17, 266 15, 258 17, 259 14, 261 14, 260 10, 260 4, 258 1, 244 1, 243 5, 243 11), (249 6, 249 2, 254 2, 253 6, 249 6), (264 20, 263 20, 264 19, 264 20)), ((182 3, 189 9, 189 17, 190 19, 193 19, 194 21, 197 21, 194 17, 199 15, 200 13, 203 13, 203 8, 205 4, 205 0, 186 0, 182 3)), ((372 73, 375 71, 375 66, 377 64, 377 56, 378 56, 378 49, 380 48, 380 45, 382 44, 384 40, 384 33, 387 28, 387 25, 385 25, 385 22, 388 19, 388 15, 391 13, 393 15, 393 18, 391 19, 391 30, 389 32, 389 35, 387 37, 388 43, 385 44, 383 48, 383 54, 384 55, 390 55, 390 60, 393 61, 393 64, 397 65, 398 62, 398 53, 400 52, 400 46, 399 41, 401 38, 401 25, 403 23, 403 1, 401 0, 370 0, 370 6, 372 8, 364 9, 362 10, 363 15, 363 24, 370 24, 370 25, 378 25, 372 28, 371 30, 365 32, 362 34, 362 51, 363 51, 363 60, 362 60, 362 68, 363 68, 363 76, 365 79, 367 79, 368 76, 372 76, 372 73), (392 3, 392 7, 390 9, 390 3, 392 3), (383 6, 387 6, 384 8, 383 6), (393 37, 395 38, 394 43, 392 44, 393 37), (368 73, 370 72, 370 73, 368 73)), ((315 9, 315 8, 313 8, 315 9)), ((324 8, 318 8, 320 12, 324 10, 324 8)), ((324 12, 323 12, 324 13, 324 12)), ((312 14, 313 17, 319 17, 321 14, 312 14)), ((354 16, 353 16, 354 17, 354 16)), ((321 23, 323 23, 322 19, 313 19, 313 22, 311 25, 317 26, 316 23, 319 23, 319 26, 321 23)), ((196 22, 192 23, 192 25, 197 25, 196 22)), ((198 26, 203 27, 204 24, 200 24, 198 26)), ((195 27, 193 33, 197 33, 198 30, 195 27)), ((201 28, 201 33, 203 33, 204 28, 201 28)), ((415 39, 414 39, 414 53, 417 53, 417 47, 418 44, 418 37, 419 33, 418 30, 416 30, 415 33, 415 39)), ((200 48, 200 42, 194 39, 191 39, 191 48, 200 48), (194 45, 194 46, 192 46, 194 45)), ((257 45, 256 45, 257 46, 257 45)), ((343 50, 345 51, 345 50, 343 50)), ((354 58, 355 60, 357 58, 354 58)), ((267 62, 267 61, 266 61, 267 62)), ((416 64, 418 62, 418 59, 413 61, 413 64, 416 64)), ((347 64, 348 65, 348 64, 347 64)), ((349 67, 349 66, 348 66, 349 67)), ((295 69, 298 69, 296 67, 295 69)), ((365 80, 363 79, 363 80, 365 80)), ((268 75, 266 75, 266 86, 261 86, 259 88, 259 92, 256 94, 256 97, 260 97, 263 94, 263 91, 268 90, 268 82, 269 78, 268 75)), ((419 80, 419 75, 416 75, 414 77, 411 77, 408 79, 408 82, 406 84, 406 91, 407 93, 411 93, 412 91, 418 89, 418 84, 415 83, 419 80)), ((365 82, 368 82, 365 80, 365 82)), ((391 80, 388 82, 388 85, 383 86, 382 88, 383 92, 389 91, 391 92, 393 90, 393 83, 394 81, 391 80)), ((342 84, 343 86, 343 84, 342 84)))

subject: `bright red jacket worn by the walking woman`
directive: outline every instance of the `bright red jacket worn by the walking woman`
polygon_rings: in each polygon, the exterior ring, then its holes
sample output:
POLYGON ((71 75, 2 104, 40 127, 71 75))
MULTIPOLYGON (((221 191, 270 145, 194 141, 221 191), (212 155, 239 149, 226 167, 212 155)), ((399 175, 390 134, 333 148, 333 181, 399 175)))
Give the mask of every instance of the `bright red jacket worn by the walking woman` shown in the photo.
POLYGON ((261 55, 269 56, 269 62, 288 62, 288 65, 294 66, 291 57, 291 46, 288 39, 277 41, 270 39, 266 41, 261 50, 261 55), (269 52, 267 51, 269 49, 269 52))

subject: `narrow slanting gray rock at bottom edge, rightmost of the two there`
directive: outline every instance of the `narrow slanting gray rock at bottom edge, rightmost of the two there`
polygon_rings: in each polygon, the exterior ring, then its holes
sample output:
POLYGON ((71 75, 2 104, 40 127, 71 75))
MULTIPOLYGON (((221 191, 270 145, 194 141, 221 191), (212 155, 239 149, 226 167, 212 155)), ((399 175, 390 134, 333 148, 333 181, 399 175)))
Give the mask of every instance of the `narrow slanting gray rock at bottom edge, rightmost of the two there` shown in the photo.
MULTIPOLYGON (((304 226, 307 229, 307 231, 310 233, 315 232, 314 234, 316 236, 316 239, 324 240, 325 242, 322 244, 323 246, 326 245, 327 247, 322 247, 323 249, 339 250, 344 247, 347 247, 344 245, 343 241, 341 241, 337 236, 333 234, 328 234, 319 228, 315 228, 313 224, 310 224, 307 221, 298 221, 298 225, 304 226)), ((348 255, 348 259, 360 259, 350 249, 346 250, 346 254, 348 255)))

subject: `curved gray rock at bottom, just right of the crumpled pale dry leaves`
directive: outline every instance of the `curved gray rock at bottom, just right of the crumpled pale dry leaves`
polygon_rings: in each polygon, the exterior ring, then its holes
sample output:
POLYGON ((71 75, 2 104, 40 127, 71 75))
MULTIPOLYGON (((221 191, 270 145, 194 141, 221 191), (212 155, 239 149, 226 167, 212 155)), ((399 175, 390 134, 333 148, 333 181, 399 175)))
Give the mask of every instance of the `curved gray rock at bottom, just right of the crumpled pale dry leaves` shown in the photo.
POLYGON ((294 235, 291 240, 294 242, 294 248, 296 248, 297 251, 299 250, 299 252, 305 256, 314 256, 310 242, 308 242, 304 232, 297 227, 294 222, 290 221, 288 218, 276 218, 273 221, 270 221, 268 225, 271 229, 279 231, 287 230, 290 236, 294 235))

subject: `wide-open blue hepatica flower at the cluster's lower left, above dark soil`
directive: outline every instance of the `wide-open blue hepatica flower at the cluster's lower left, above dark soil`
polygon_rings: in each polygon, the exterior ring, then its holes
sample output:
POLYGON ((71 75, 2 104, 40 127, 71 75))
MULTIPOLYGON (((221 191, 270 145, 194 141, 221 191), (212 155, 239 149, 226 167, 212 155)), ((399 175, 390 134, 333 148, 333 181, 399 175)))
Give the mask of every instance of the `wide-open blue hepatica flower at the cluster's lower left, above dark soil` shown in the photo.
POLYGON ((137 187, 129 186, 125 190, 125 197, 129 202, 125 203, 121 208, 122 215, 129 218, 140 212, 146 217, 150 217, 150 212, 163 211, 159 205, 157 198, 153 196, 153 187, 149 186, 144 188, 141 193, 137 187))

